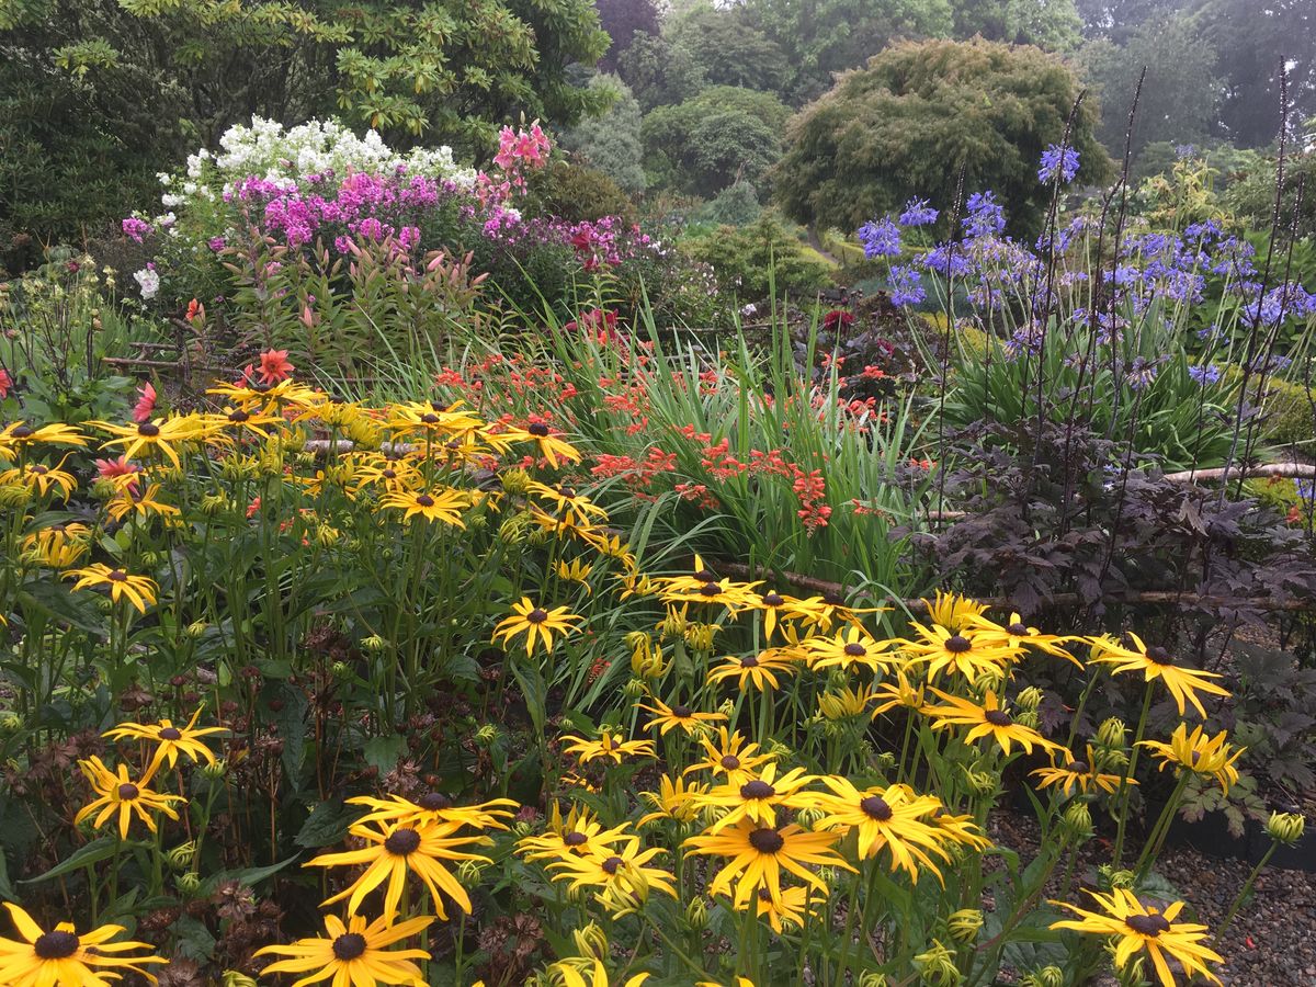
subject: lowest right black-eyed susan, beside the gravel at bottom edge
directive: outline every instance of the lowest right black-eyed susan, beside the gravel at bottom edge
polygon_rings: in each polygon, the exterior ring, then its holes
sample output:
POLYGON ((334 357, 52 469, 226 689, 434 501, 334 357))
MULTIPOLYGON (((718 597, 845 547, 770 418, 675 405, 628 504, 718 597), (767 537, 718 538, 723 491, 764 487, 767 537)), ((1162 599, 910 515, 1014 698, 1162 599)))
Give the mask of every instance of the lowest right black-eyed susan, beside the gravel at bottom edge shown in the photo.
POLYGON ((1177 983, 1170 963, 1166 962, 1167 957, 1183 967, 1188 979, 1202 976, 1211 983, 1220 983, 1209 965, 1223 963, 1224 958, 1204 945, 1207 926, 1175 921, 1183 911, 1183 901, 1175 901, 1161 912, 1144 905, 1128 888, 1115 888, 1108 895, 1099 891, 1088 894, 1101 907, 1100 912, 1090 912, 1066 901, 1051 901, 1079 916, 1051 923, 1051 928, 1109 938, 1115 944, 1115 966, 1120 970, 1125 970, 1138 953, 1146 953, 1161 987, 1174 987, 1177 983))

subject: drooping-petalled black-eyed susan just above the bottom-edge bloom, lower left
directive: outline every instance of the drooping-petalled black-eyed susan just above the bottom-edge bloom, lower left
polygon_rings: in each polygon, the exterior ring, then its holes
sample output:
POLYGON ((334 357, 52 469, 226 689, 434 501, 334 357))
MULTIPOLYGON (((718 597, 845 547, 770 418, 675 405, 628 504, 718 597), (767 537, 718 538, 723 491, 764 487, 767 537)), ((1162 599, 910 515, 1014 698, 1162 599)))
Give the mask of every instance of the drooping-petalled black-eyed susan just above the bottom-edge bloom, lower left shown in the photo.
POLYGON ((491 863, 488 857, 466 853, 467 846, 482 846, 494 842, 484 836, 453 836, 449 825, 400 826, 400 825, 354 825, 349 830, 366 841, 359 850, 326 853, 307 861, 303 867, 353 867, 366 865, 366 870, 351 884, 340 891, 325 904, 347 899, 347 911, 355 913, 366 895, 387 882, 384 890, 384 916, 397 915, 397 903, 403 896, 407 876, 415 874, 429 888, 434 900, 434 912, 440 919, 447 919, 443 895, 470 915, 471 899, 443 861, 479 861, 491 863))

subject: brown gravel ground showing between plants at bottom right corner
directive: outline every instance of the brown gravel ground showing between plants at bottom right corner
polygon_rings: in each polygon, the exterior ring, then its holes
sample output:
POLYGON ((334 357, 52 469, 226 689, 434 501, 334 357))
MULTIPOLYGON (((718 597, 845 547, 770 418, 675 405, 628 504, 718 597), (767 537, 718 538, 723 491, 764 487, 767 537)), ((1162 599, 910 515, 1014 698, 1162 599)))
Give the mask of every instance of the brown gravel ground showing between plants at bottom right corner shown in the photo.
MULTIPOLYGON (((1001 812, 992 816, 988 829, 1003 846, 1028 855, 1036 851, 1036 820, 1001 812)), ((1090 842, 1083 863, 1103 862, 1105 849, 1090 842)), ((1196 911, 1198 921, 1216 928, 1252 873, 1252 865, 1170 845, 1161 854, 1157 870, 1196 911)), ((1252 900, 1238 909, 1216 951, 1227 961, 1219 970, 1225 987, 1316 987, 1316 874, 1263 870, 1252 900)), ((1115 979, 1101 978, 1096 983, 1113 984, 1115 979)))

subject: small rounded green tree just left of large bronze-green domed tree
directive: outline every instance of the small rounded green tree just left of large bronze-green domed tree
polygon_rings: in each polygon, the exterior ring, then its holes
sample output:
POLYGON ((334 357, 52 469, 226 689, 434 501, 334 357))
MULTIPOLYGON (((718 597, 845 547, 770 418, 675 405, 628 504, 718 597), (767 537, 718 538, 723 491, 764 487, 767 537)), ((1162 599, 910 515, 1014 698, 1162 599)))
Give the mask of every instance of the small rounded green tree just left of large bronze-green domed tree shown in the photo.
POLYGON ((790 114, 769 92, 713 86, 645 117, 646 164, 655 184, 704 197, 737 180, 757 184, 782 154, 790 114))

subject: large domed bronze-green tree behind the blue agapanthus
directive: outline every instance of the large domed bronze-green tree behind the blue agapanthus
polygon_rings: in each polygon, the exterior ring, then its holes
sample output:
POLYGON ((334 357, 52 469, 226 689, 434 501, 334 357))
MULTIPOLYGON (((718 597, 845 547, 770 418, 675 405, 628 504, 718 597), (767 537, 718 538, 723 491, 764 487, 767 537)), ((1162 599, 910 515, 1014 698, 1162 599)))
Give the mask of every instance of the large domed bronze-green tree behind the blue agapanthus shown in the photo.
MULTIPOLYGON (((995 191, 1012 229, 1033 232, 1050 195, 1037 162, 1059 142, 1078 92, 1074 71, 1036 47, 896 45, 791 121, 771 175, 776 196, 800 222, 854 230, 913 195, 949 205, 963 170, 967 192, 995 191)), ((1094 134, 1098 118, 1084 101, 1071 138, 1079 182, 1111 171, 1094 134)))

